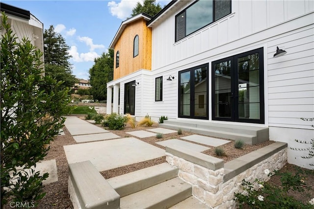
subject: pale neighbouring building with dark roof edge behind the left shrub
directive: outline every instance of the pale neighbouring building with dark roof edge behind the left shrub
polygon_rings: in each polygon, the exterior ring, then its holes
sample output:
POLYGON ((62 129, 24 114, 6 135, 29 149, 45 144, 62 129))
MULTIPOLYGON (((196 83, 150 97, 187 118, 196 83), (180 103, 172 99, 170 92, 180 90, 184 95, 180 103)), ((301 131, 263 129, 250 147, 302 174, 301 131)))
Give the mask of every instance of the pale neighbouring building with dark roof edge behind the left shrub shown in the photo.
MULTIPOLYGON (((0 10, 8 16, 8 23, 11 25, 13 33, 16 34, 17 41, 21 42, 25 37, 31 41, 32 45, 44 52, 44 24, 28 10, 0 3, 0 10)), ((1 35, 3 33, 4 31, 1 30, 1 35)), ((42 62, 44 62, 44 56, 42 56, 42 62)))

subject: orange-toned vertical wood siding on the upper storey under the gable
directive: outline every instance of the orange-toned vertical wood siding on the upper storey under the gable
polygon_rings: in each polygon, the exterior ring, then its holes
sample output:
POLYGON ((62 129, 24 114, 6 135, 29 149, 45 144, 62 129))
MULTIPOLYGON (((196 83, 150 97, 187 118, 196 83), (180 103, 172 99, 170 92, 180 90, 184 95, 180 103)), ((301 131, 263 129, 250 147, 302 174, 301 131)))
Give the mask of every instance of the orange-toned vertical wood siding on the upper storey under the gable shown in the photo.
POLYGON ((152 29, 140 19, 128 24, 114 46, 113 80, 129 75, 140 69, 151 70, 152 29), (138 35, 138 55, 133 57, 133 41, 138 35), (119 67, 116 68, 116 52, 119 51, 119 67))

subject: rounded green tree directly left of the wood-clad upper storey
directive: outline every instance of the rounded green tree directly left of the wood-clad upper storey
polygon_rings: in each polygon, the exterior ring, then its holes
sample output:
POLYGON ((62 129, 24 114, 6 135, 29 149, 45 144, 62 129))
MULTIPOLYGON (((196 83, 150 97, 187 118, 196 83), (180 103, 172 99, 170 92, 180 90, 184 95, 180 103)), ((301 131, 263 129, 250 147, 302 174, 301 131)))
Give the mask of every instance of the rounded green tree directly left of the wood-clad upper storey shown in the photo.
POLYGON ((113 79, 113 49, 108 49, 101 57, 95 59, 95 64, 89 69, 90 94, 94 99, 105 100, 107 97, 106 83, 113 79))

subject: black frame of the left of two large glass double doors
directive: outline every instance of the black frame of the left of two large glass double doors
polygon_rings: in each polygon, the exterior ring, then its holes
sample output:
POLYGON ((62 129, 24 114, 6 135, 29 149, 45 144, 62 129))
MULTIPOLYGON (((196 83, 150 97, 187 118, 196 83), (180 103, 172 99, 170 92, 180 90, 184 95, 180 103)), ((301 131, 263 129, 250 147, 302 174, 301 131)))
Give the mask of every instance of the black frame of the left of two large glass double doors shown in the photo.
POLYGON ((181 118, 193 118, 193 119, 209 119, 209 63, 203 64, 203 65, 199 65, 193 68, 189 68, 189 69, 185 69, 185 70, 181 70, 178 73, 178 80, 179 80, 179 84, 178 84, 178 117, 181 118), (196 69, 200 69, 200 68, 204 68, 206 67, 206 116, 195 116, 195 111, 194 111, 194 107, 195 107, 195 76, 194 76, 194 71, 196 69), (190 115, 189 116, 181 116, 180 115, 180 107, 181 107, 181 99, 180 99, 180 95, 181 95, 181 73, 184 72, 188 72, 190 71, 190 115), (193 78, 193 79, 192 79, 193 78), (193 88, 192 88, 193 87, 193 88))

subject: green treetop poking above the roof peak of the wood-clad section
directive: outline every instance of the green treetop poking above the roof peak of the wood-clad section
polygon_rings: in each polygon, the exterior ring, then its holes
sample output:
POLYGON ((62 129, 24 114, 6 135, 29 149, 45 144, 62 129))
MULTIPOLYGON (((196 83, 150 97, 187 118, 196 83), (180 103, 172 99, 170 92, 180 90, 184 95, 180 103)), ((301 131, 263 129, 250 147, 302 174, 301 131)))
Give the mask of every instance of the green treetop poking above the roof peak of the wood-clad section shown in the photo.
POLYGON ((144 0, 143 5, 140 2, 137 2, 136 6, 132 10, 131 17, 134 17, 143 12, 153 17, 160 10, 161 6, 159 3, 156 4, 156 0, 144 0))

